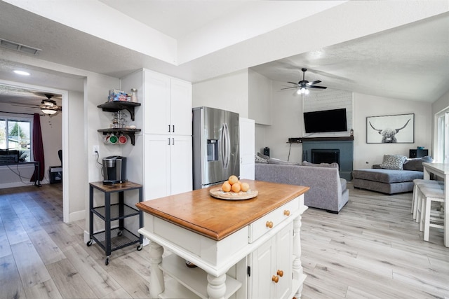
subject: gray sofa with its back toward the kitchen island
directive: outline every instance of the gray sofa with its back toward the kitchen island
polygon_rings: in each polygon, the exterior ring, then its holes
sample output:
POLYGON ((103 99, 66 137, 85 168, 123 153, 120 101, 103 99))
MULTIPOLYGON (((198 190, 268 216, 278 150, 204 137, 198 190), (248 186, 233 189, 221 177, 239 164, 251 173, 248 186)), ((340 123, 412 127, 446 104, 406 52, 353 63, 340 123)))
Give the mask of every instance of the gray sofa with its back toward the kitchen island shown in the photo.
POLYGON ((255 179, 274 183, 308 186, 304 204, 337 213, 349 200, 347 181, 340 179, 338 168, 303 165, 255 163, 255 179))

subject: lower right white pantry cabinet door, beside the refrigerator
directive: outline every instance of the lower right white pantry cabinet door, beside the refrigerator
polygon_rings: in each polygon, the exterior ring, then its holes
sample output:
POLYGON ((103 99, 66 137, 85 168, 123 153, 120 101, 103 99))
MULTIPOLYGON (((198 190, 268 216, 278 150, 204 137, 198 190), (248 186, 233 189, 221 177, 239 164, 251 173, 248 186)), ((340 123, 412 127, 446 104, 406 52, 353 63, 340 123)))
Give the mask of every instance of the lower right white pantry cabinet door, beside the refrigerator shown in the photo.
POLYGON ((192 137, 171 136, 171 194, 192 191, 192 137))

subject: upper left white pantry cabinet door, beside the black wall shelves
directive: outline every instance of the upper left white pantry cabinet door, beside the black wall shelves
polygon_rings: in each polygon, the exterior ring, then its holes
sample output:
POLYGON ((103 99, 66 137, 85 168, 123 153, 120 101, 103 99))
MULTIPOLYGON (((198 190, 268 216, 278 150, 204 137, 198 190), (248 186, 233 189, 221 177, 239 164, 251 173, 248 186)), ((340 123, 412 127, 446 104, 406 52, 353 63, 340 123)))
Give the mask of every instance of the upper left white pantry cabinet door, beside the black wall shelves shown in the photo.
POLYGON ((145 71, 144 81, 144 133, 170 134, 170 77, 145 71))

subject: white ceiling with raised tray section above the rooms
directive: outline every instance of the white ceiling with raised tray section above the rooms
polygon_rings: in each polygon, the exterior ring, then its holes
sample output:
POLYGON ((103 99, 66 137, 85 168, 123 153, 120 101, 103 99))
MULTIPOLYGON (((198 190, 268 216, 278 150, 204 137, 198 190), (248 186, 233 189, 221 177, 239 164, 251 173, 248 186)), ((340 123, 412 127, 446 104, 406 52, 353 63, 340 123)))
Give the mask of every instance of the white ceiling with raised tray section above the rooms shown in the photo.
MULTIPOLYGON (((449 90, 448 0, 4 0, 0 38, 117 78, 145 67, 196 83, 250 68, 297 82, 306 67, 337 90, 428 102, 449 90)), ((0 80, 82 89, 80 76, 39 67, 11 75, 29 68, 11 52, 0 48, 0 80)))

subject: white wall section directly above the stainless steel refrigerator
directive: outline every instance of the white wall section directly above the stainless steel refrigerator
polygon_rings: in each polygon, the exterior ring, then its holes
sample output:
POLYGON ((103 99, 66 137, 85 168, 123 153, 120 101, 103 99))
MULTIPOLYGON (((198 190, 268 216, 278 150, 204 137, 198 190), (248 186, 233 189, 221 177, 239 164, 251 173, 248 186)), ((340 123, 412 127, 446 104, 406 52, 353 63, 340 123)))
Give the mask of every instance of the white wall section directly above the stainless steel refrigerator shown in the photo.
POLYGON ((192 85, 192 107, 207 106, 248 118, 248 69, 192 85))

